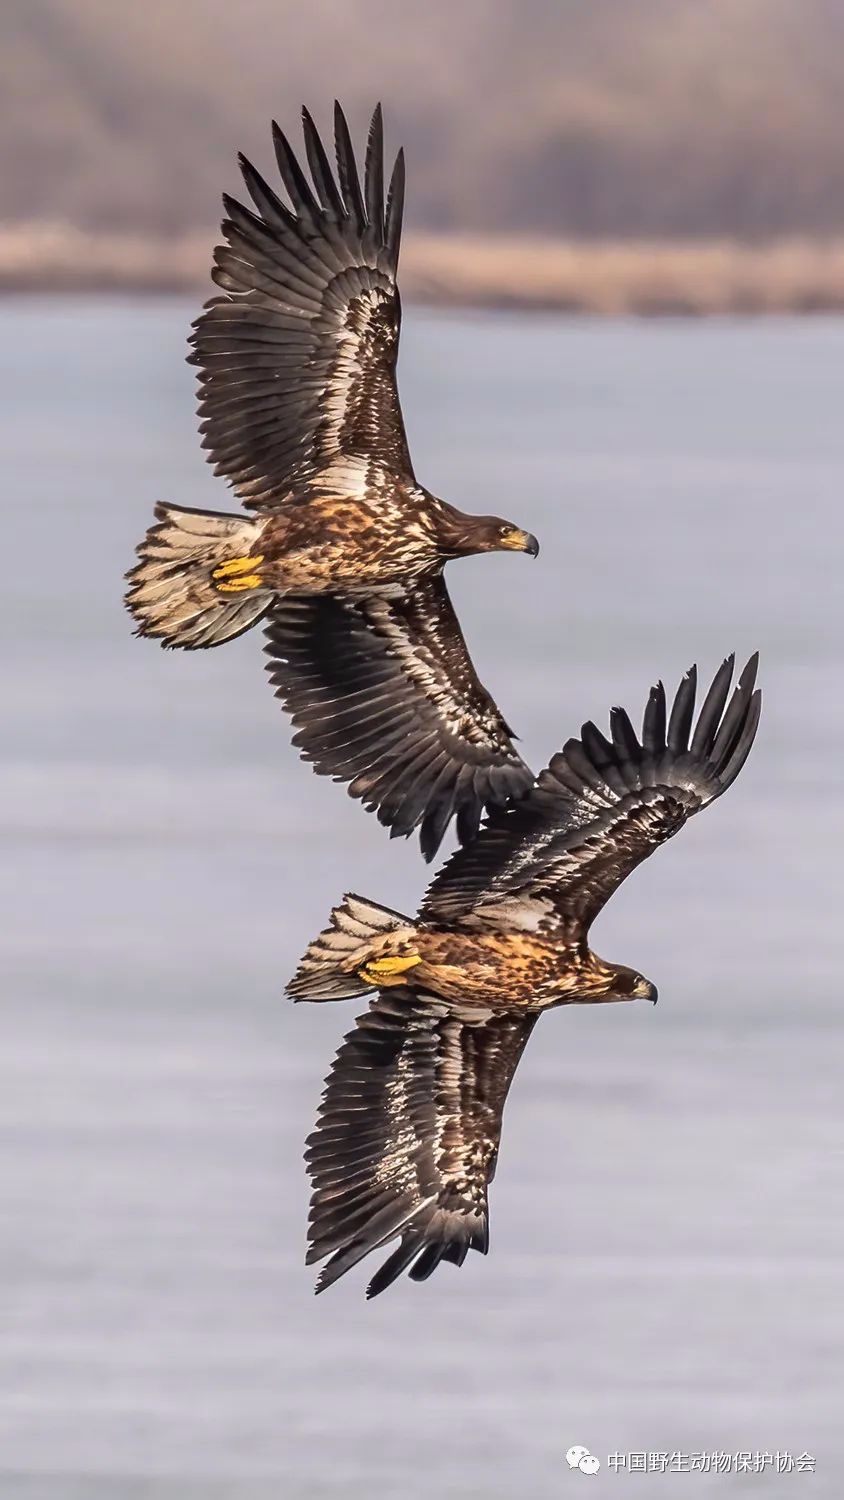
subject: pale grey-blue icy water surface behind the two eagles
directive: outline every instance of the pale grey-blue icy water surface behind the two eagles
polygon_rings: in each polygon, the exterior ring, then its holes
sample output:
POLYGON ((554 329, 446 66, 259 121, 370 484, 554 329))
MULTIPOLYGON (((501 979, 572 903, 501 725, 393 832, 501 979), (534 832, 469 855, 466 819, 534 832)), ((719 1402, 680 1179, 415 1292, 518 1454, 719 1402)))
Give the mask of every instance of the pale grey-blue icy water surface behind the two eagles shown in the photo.
POLYGON ((543 1020, 489 1258, 366 1305, 303 1266, 352 1010, 282 987, 342 891, 426 876, 298 764, 258 636, 130 638, 153 501, 232 508, 192 315, 0 308, 0 1496, 838 1497, 844 324, 406 316, 418 474, 543 543, 448 572, 526 756, 732 648, 765 711, 595 930, 661 1004, 543 1020), (778 1449, 814 1476, 607 1467, 778 1449))

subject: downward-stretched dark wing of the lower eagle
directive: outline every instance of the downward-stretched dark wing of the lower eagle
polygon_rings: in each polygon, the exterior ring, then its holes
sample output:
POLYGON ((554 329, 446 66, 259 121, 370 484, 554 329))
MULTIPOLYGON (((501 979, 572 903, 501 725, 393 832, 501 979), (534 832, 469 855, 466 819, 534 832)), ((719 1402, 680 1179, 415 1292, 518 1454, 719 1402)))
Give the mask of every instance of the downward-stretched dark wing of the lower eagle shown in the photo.
POLYGON ((343 1041, 328 1076, 306 1161, 313 1182, 307 1263, 322 1292, 396 1234, 372 1278, 384 1292, 412 1263, 424 1281, 489 1245, 487 1185, 495 1173, 507 1090, 537 1016, 466 1006, 433 994, 382 990, 343 1041))

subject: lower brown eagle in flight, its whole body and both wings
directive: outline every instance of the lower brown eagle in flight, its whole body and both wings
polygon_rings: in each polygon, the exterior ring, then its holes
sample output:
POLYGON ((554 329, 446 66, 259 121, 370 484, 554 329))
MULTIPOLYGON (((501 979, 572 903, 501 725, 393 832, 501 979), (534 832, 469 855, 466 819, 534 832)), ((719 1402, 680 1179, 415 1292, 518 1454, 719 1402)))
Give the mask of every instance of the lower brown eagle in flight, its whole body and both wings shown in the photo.
POLYGON ((610 738, 583 724, 528 796, 493 810, 436 874, 418 916, 346 896, 288 986, 300 1000, 375 990, 328 1076, 306 1160, 316 1290, 400 1236, 367 1296, 403 1270, 424 1281, 489 1245, 501 1118, 540 1014, 657 1000, 636 969, 600 958, 589 928, 624 879, 735 782, 762 696, 733 658, 694 720, 696 670, 670 714, 651 690, 642 736, 621 708, 610 738), (729 699, 729 702, 727 702, 729 699))

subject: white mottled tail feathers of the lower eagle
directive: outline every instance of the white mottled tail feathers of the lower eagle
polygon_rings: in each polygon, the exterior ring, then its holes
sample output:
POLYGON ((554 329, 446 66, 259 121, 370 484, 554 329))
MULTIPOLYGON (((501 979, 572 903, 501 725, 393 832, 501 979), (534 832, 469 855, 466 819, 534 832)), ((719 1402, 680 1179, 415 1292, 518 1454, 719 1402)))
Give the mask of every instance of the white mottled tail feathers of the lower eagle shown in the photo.
POLYGON ((363 980, 358 970, 373 942, 400 930, 412 933, 411 916, 367 902, 363 896, 345 896, 331 912, 330 926, 309 945, 288 984, 288 994, 294 1000, 346 1000, 366 994, 373 984, 363 980))

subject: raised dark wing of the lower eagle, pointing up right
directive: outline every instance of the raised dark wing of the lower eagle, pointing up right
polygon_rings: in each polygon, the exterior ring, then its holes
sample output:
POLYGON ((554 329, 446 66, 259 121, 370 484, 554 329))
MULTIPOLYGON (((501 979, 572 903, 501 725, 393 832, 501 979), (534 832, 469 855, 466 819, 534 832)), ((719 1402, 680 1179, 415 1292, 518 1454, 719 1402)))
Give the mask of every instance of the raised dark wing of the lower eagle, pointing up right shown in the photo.
POLYGON ((735 782, 759 724, 756 669, 754 656, 727 705, 733 657, 723 663, 694 734, 694 668, 667 724, 663 684, 651 690, 642 742, 621 708, 610 714, 612 740, 583 724, 529 795, 493 813, 475 843, 453 855, 420 916, 583 938, 631 870, 735 782))

